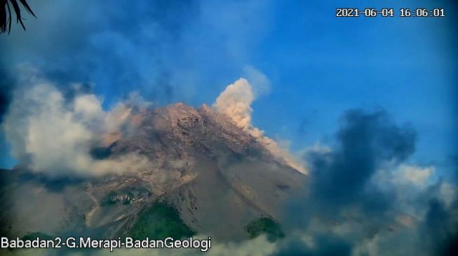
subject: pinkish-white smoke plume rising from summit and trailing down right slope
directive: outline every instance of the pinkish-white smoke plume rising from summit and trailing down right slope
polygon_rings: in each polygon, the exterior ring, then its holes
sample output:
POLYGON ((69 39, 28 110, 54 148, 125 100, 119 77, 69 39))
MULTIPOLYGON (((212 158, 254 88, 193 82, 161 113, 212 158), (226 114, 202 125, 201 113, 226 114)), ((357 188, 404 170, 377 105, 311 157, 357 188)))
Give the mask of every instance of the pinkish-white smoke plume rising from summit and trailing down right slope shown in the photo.
POLYGON ((272 138, 264 136, 264 131, 254 127, 251 123, 252 101, 255 100, 257 94, 255 92, 266 92, 268 90, 268 80, 260 73, 260 71, 254 68, 248 68, 248 75, 251 76, 258 82, 257 85, 262 86, 260 90, 253 90, 253 87, 248 80, 240 78, 233 84, 227 85, 226 89, 221 92, 220 96, 217 97, 213 107, 220 113, 229 116, 231 120, 240 127, 247 131, 253 137, 262 143, 273 155, 283 159, 286 164, 302 173, 307 173, 307 169, 304 168, 304 164, 300 163, 298 159, 295 159, 287 149, 282 148, 272 138))

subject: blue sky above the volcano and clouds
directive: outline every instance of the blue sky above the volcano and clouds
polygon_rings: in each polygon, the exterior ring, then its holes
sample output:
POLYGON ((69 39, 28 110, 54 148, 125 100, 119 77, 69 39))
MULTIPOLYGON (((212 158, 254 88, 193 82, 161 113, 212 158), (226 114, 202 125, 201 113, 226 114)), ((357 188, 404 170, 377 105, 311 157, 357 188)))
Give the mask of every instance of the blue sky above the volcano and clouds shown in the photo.
MULTIPOLYGON (((64 91, 88 83, 109 108, 134 90, 158 105, 212 104, 253 66, 271 81, 253 123, 293 151, 332 145, 348 109, 384 108, 417 130, 412 162, 440 166, 456 152, 452 1, 83 2, 31 0, 38 19, 1 35, 1 69, 15 79, 15 66, 32 64, 64 91), (336 7, 439 7, 447 17, 338 18, 336 7)), ((11 168, 0 141, 0 167, 11 168)))

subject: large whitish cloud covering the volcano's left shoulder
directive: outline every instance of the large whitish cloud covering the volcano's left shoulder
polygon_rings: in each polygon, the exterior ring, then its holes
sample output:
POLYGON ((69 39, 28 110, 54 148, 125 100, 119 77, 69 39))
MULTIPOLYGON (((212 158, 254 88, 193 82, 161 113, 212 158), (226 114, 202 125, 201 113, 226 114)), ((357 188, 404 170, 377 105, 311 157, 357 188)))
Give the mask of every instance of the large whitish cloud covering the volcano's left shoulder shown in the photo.
POLYGON ((99 176, 144 169, 148 160, 139 155, 93 159, 90 148, 105 134, 119 134, 130 108, 118 104, 102 110, 93 94, 80 94, 68 103, 60 90, 46 80, 29 76, 14 93, 4 120, 12 155, 32 171, 51 175, 99 176))

